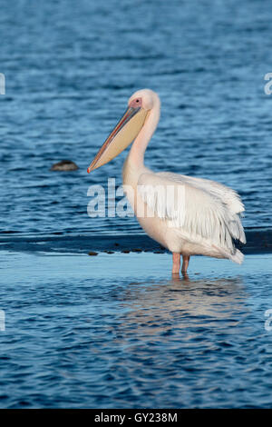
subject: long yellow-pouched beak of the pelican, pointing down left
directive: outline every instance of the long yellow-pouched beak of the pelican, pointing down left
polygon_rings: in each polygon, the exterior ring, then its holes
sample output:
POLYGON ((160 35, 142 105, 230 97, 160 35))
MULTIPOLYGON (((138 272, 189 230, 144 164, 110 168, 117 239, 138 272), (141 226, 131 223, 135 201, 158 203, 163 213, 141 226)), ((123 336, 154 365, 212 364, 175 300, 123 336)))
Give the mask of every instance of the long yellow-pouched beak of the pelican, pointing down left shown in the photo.
POLYGON ((92 164, 87 169, 88 174, 103 164, 109 163, 131 144, 141 131, 147 114, 148 110, 141 106, 129 106, 92 160, 92 164))

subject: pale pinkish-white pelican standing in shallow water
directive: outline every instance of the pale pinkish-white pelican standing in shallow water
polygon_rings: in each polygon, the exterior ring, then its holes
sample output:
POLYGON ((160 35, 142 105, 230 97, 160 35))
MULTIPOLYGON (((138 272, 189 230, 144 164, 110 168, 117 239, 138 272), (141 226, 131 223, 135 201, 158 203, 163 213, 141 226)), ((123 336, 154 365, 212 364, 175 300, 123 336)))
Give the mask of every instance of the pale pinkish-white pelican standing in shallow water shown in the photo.
POLYGON ((172 273, 186 274, 191 255, 226 258, 242 263, 234 242, 246 243, 239 195, 209 179, 152 172, 144 154, 160 119, 160 98, 151 89, 131 95, 128 108, 88 167, 107 164, 127 148, 122 170, 124 192, 141 227, 172 253, 172 273))

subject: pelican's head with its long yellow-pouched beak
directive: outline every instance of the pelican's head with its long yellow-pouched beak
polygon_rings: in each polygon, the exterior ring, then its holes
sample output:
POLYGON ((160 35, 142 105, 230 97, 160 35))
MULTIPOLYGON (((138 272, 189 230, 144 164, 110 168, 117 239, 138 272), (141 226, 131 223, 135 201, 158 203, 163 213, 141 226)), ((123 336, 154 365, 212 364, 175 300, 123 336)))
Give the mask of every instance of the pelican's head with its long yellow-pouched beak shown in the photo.
POLYGON ((88 173, 110 162, 131 144, 140 133, 149 112, 158 99, 158 95, 150 89, 141 89, 132 94, 127 111, 102 144, 87 169, 88 173))

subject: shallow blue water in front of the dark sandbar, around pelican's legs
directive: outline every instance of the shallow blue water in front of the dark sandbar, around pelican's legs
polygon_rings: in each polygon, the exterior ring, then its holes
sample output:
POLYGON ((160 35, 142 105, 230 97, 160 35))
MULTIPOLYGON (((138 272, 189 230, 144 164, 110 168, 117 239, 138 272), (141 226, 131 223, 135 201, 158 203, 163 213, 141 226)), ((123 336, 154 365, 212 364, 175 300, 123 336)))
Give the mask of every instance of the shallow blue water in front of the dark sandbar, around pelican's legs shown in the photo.
POLYGON ((271 255, 188 279, 165 253, 8 260, 1 407, 271 407, 271 255))

